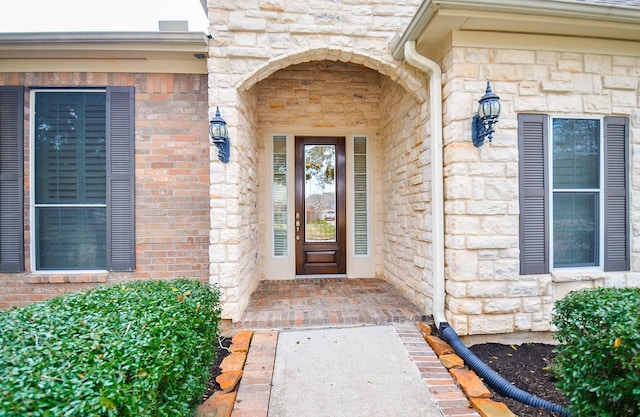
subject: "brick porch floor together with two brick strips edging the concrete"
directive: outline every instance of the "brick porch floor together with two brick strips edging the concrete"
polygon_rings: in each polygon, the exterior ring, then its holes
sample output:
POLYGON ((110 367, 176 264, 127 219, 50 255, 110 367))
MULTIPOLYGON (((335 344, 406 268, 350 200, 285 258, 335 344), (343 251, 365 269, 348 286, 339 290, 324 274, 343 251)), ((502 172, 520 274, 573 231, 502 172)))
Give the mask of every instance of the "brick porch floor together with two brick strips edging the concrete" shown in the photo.
POLYGON ((415 324, 431 317, 379 279, 262 281, 235 327, 256 330, 232 417, 267 417, 278 330, 393 324, 445 417, 479 417, 415 324))

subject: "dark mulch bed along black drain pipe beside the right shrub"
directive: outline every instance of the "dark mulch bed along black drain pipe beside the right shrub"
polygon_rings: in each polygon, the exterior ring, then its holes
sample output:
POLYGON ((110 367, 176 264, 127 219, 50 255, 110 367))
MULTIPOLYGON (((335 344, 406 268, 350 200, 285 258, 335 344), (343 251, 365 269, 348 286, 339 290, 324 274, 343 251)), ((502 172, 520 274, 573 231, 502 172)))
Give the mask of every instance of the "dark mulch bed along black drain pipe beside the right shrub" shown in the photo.
MULTIPOLYGON (((502 345, 485 343, 469 349, 507 381, 543 400, 565 407, 566 397, 556 388, 551 369, 555 346, 542 343, 502 345)), ((491 388, 490 388, 491 389, 491 388)), ((531 407, 493 392, 493 400, 504 403, 518 417, 559 417, 544 408, 531 407)))

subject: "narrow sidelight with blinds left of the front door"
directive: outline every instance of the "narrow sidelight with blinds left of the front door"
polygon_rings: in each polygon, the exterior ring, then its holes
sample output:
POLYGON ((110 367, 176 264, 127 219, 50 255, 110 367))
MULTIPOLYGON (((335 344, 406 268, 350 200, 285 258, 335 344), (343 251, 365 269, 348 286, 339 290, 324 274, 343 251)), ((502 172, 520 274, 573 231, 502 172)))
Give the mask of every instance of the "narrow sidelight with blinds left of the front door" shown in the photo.
POLYGON ((273 256, 287 256, 287 137, 273 137, 273 256))

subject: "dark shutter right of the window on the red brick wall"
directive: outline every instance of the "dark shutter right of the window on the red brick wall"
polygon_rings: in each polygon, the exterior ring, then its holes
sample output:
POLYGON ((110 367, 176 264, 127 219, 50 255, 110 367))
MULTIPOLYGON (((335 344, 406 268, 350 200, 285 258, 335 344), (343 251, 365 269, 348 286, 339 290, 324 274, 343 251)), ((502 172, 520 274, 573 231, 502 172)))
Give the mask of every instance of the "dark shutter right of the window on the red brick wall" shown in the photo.
POLYGON ((107 88, 107 269, 135 269, 134 88, 107 88))

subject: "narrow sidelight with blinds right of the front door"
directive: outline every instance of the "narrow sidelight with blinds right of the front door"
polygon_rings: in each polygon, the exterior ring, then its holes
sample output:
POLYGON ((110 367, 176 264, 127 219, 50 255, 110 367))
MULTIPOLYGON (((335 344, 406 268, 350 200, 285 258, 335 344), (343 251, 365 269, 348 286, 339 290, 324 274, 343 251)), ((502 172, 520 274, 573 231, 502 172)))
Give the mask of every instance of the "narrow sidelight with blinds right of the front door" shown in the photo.
POLYGON ((354 253, 369 254, 367 211, 367 138, 353 138, 354 253))

